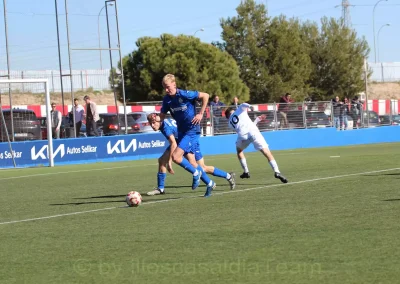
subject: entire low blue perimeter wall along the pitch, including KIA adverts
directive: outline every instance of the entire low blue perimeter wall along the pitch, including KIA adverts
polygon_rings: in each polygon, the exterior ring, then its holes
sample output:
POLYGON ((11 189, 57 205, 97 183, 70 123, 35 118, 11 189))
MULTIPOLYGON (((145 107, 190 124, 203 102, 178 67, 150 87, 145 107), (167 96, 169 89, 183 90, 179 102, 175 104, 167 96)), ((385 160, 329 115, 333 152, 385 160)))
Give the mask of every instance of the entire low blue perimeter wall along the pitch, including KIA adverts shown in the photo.
MULTIPOLYGON (((271 150, 400 142, 399 126, 351 131, 334 128, 263 132, 271 150)), ((204 155, 235 153, 236 135, 201 137, 204 155)), ((13 142, 19 167, 48 165, 47 141, 13 142)), ((54 140, 55 165, 157 158, 168 146, 160 133, 54 140)), ((250 146, 248 151, 254 151, 250 146)), ((13 167, 8 143, 0 143, 0 168, 13 167)))

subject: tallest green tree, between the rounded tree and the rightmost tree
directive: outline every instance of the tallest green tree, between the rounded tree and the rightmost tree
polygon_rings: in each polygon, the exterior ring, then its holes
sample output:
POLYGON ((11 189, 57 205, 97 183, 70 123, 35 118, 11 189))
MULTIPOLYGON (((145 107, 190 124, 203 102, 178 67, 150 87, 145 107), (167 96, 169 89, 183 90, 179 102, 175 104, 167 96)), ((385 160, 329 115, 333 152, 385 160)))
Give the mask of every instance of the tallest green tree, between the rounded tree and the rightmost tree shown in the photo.
POLYGON ((235 58, 252 102, 276 101, 285 92, 306 96, 311 61, 301 38, 300 23, 266 15, 265 6, 242 1, 238 15, 222 19, 223 47, 235 58))

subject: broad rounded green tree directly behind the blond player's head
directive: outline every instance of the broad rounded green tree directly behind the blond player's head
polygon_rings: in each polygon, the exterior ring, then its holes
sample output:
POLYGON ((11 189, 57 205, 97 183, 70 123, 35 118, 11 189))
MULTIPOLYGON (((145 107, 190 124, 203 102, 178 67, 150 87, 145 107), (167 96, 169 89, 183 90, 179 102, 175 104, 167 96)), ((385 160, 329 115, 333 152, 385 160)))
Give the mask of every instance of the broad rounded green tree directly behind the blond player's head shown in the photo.
POLYGON ((163 34, 140 38, 136 45, 138 49, 123 59, 125 94, 130 101, 160 100, 164 95, 161 81, 167 73, 176 76, 178 87, 218 95, 221 101, 249 98, 235 60, 211 44, 191 36, 163 34))

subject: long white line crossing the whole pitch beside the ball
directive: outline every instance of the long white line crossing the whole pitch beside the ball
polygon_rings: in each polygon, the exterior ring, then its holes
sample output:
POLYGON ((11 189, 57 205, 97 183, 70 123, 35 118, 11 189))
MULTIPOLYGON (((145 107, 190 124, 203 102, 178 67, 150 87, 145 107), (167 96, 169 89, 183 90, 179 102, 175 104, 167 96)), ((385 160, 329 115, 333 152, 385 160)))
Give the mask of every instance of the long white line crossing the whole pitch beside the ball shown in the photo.
MULTIPOLYGON (((363 172, 363 173, 354 173, 354 174, 345 174, 345 175, 338 175, 338 176, 331 176, 331 177, 323 177, 323 178, 314 178, 314 179, 307 179, 307 180, 289 182, 289 183, 286 183, 286 184, 277 183, 277 184, 271 184, 271 185, 266 185, 266 186, 258 186, 258 187, 251 187, 251 188, 245 188, 245 189, 239 189, 239 190, 230 190, 230 191, 224 191, 224 192, 215 192, 215 193, 213 193, 213 195, 223 195, 223 194, 230 194, 230 193, 239 193, 239 192, 245 192, 245 191, 256 190, 256 189, 262 189, 262 188, 273 188, 273 187, 279 187, 279 186, 290 186, 290 185, 294 185, 294 184, 302 184, 302 183, 308 183, 308 182, 314 182, 314 181, 329 180, 329 179, 336 179, 336 178, 343 178, 343 177, 351 177, 351 176, 359 176, 359 175, 365 175, 365 174, 377 174, 377 173, 390 172, 390 171, 397 171, 397 170, 400 170, 400 168, 393 168, 393 169, 386 169, 386 170, 377 170, 377 171, 370 171, 370 172, 363 172)), ((155 201, 145 202, 145 203, 143 203, 143 205, 150 205, 150 204, 156 204, 156 203, 164 203, 164 202, 169 202, 169 201, 178 201, 178 200, 191 199, 191 198, 198 198, 198 197, 203 197, 203 195, 196 195, 196 196, 189 196, 189 197, 180 197, 180 198, 174 198, 174 199, 155 200, 155 201)), ((212 197, 211 197, 211 198, 212 198, 212 197)), ((142 205, 142 206, 143 206, 143 205, 142 205)), ((117 208, 127 208, 127 207, 128 207, 128 206, 107 207, 107 208, 100 208, 100 209, 94 209, 94 210, 87 210, 87 211, 80 211, 80 212, 72 212, 72 213, 65 213, 65 214, 58 214, 58 215, 46 216, 46 217, 38 217, 38 218, 31 218, 31 219, 24 219, 24 220, 15 220, 15 221, 7 221, 7 222, 1 222, 0 225, 16 224, 16 223, 23 223, 23 222, 30 222, 30 221, 40 221, 40 220, 46 220, 46 219, 53 219, 53 218, 59 218, 59 217, 65 217, 65 216, 73 216, 73 215, 86 214, 86 213, 92 213, 92 212, 100 212, 100 211, 112 210, 112 209, 117 209, 117 208)))

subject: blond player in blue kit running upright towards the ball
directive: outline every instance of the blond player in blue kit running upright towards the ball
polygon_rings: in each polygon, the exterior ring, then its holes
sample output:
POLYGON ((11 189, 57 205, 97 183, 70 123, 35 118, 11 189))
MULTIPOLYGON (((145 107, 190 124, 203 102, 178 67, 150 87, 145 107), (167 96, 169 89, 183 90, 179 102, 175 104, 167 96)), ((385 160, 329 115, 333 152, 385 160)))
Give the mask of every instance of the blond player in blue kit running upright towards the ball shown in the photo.
POLYGON ((162 84, 167 94, 163 99, 160 120, 162 122, 165 119, 165 115, 170 112, 178 126, 178 146, 173 152, 171 151, 172 160, 193 175, 193 189, 199 186, 200 178, 202 177, 201 180, 207 185, 204 197, 209 197, 216 186, 215 182, 207 176, 201 166, 194 167, 188 160, 183 158, 183 155, 185 153, 195 153, 194 147, 199 141, 200 121, 203 118, 210 96, 203 92, 178 89, 175 76, 172 74, 165 75, 162 84), (196 114, 197 100, 202 102, 198 114, 196 114))

